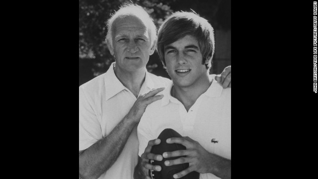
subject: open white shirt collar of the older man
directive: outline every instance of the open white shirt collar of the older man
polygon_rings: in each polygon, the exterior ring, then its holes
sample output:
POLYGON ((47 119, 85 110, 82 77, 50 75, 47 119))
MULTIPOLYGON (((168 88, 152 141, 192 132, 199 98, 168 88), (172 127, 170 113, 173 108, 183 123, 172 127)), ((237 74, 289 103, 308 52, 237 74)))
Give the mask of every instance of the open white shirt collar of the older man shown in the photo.
MULTIPOLYGON (((105 81, 106 100, 110 99, 111 97, 121 92, 122 90, 129 91, 129 89, 127 89, 116 77, 115 71, 114 71, 115 65, 116 65, 116 62, 113 62, 105 74, 104 81, 105 81)), ((148 72, 146 72, 145 82, 142 85, 141 91, 145 88, 153 89, 154 87, 155 85, 154 85, 153 79, 151 78, 151 75, 148 72)))

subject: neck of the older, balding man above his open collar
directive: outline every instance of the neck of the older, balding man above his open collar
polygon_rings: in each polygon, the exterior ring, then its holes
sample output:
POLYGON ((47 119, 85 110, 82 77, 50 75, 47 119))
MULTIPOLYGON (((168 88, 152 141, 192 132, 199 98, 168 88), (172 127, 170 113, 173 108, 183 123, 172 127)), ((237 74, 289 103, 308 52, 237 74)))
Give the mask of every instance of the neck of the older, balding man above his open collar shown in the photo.
POLYGON ((135 72, 122 70, 118 66, 115 66, 114 68, 114 72, 118 80, 136 97, 138 97, 140 89, 145 81, 146 71, 146 68, 135 72))

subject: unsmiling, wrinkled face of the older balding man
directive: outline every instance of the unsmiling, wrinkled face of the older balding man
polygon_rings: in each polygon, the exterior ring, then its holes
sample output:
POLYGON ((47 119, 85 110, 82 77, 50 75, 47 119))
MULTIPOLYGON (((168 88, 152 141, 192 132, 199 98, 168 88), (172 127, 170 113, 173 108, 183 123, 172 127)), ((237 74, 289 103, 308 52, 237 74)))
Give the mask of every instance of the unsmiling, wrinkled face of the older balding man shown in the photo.
POLYGON ((135 16, 119 17, 113 25, 116 67, 124 72, 135 72, 145 68, 149 56, 154 53, 147 27, 135 16))

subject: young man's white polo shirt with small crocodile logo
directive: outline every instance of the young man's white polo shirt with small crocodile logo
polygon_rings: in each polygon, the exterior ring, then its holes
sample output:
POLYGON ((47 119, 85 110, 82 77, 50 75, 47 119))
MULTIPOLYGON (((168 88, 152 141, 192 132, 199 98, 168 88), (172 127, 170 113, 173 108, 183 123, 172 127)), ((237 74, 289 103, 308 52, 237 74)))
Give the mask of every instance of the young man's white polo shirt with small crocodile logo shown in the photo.
MULTIPOLYGON (((208 152, 231 160, 231 88, 223 89, 213 80, 188 112, 170 95, 171 88, 172 82, 162 91, 162 99, 148 105, 139 122, 139 156, 144 153, 149 140, 171 128, 199 142, 208 152), (218 142, 211 142, 212 139, 218 142)), ((200 174, 200 179, 219 178, 213 174, 200 174)))

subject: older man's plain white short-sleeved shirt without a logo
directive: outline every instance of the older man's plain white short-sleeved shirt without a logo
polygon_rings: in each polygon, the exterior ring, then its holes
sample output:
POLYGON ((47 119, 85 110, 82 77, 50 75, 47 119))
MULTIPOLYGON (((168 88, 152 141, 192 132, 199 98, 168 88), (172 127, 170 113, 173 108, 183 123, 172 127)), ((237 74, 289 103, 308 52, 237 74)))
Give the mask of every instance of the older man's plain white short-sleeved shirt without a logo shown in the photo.
MULTIPOLYGON (((109 70, 79 87, 79 151, 106 137, 124 118, 136 101, 135 95, 109 70)), ((140 94, 150 89, 166 87, 169 79, 146 73, 140 94)), ((138 162, 137 127, 117 161, 98 179, 133 179, 138 162)))

